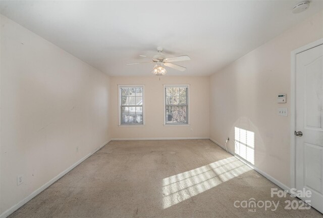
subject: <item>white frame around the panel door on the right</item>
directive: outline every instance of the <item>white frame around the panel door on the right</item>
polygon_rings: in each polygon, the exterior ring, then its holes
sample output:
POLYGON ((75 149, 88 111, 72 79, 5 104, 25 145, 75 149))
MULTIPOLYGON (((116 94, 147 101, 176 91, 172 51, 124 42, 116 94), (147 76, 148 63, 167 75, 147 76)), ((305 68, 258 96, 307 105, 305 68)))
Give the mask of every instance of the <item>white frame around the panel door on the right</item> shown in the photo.
POLYGON ((323 38, 309 43, 291 52, 291 187, 296 188, 296 55, 323 44, 323 38))

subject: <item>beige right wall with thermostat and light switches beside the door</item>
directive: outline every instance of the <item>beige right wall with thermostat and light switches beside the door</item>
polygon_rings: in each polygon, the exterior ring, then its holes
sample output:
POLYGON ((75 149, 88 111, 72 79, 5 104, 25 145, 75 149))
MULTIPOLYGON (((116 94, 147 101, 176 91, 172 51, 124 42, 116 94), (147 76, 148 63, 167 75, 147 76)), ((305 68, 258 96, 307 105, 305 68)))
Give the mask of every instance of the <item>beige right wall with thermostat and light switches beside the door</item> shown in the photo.
POLYGON ((290 116, 278 116, 280 107, 290 111, 291 51, 323 37, 323 13, 289 29, 236 60, 210 78, 210 138, 221 145, 234 127, 255 133, 255 166, 290 186, 290 116), (287 94, 286 104, 277 103, 287 94))

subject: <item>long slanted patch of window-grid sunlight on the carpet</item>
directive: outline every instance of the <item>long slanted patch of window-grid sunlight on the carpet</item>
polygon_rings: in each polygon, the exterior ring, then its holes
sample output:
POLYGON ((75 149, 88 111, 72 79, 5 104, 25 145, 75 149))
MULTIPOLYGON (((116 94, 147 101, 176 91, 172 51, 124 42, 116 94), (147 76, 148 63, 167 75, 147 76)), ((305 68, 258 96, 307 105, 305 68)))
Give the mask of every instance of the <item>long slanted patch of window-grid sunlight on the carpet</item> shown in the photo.
POLYGON ((187 200, 251 170, 235 157, 228 157, 163 179, 164 209, 187 200))

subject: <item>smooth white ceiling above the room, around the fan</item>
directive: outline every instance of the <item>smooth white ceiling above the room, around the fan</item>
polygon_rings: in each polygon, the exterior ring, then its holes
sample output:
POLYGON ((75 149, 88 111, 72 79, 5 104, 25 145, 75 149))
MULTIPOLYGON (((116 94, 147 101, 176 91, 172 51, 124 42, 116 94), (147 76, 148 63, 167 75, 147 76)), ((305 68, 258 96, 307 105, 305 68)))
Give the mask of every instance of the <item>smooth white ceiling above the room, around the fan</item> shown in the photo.
POLYGON ((151 75, 156 47, 184 72, 210 75, 323 8, 293 14, 299 1, 1 1, 1 13, 113 76, 151 75))

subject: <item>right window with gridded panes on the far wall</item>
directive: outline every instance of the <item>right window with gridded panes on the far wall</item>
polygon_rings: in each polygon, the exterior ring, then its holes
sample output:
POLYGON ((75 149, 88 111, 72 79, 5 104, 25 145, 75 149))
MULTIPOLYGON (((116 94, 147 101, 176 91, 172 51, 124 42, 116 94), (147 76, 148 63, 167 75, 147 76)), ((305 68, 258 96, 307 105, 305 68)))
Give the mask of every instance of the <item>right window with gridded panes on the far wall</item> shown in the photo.
POLYGON ((164 85, 165 124, 188 124, 189 85, 164 85))

